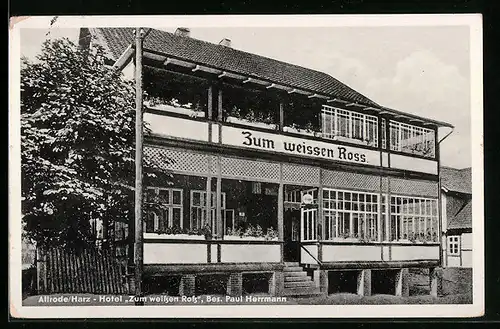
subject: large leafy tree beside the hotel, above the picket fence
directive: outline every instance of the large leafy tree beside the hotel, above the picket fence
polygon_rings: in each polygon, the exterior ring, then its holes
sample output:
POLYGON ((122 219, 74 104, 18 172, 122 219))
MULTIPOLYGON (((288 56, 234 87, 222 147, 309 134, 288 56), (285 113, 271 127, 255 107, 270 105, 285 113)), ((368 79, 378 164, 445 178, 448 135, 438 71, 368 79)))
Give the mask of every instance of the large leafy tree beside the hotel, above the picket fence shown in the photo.
POLYGON ((91 220, 106 229, 134 216, 135 89, 104 60, 68 39, 22 59, 23 221, 38 244, 85 246, 91 220))

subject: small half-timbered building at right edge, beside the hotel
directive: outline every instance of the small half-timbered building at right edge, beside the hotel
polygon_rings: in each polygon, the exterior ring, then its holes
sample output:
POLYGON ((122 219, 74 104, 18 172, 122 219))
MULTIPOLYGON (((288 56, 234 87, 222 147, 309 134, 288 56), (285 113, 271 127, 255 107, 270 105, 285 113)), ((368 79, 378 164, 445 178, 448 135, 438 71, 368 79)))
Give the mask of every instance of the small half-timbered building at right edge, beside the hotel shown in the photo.
POLYGON ((441 167, 443 267, 472 267, 471 168, 441 167))

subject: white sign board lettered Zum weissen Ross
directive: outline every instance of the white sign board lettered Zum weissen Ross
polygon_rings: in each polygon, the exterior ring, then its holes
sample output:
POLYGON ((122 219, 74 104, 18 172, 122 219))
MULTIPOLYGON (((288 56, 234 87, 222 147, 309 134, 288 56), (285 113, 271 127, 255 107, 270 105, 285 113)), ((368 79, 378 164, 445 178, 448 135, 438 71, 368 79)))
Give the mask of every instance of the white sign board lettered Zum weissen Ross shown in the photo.
POLYGON ((380 166, 380 153, 360 147, 339 145, 279 134, 222 127, 222 144, 341 162, 380 166))

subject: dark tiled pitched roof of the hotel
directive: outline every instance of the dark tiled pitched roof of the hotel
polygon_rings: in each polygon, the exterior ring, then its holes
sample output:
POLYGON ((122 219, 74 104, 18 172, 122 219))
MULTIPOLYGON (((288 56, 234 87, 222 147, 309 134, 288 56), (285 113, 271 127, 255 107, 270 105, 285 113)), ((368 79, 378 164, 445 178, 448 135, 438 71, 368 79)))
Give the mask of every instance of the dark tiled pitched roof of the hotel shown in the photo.
MULTIPOLYGON (((91 29, 91 33, 96 35, 99 41, 104 41, 105 48, 114 60, 134 41, 133 31, 134 28, 91 29)), ((326 73, 192 37, 152 29, 144 39, 143 47, 166 56, 254 76, 291 88, 305 89, 365 105, 378 105, 326 73)))

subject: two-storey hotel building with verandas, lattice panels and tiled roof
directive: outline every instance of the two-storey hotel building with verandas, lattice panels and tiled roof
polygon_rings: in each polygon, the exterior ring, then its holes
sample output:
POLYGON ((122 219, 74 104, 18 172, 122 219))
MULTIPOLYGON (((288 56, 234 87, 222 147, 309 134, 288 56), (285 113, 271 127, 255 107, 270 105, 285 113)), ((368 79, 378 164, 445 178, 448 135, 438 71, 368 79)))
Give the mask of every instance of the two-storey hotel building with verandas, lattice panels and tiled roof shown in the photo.
MULTIPOLYGON (((133 69, 133 29, 82 29, 133 69)), ((335 78, 148 30, 145 286, 172 294, 408 294, 441 260, 437 130, 335 78)))

